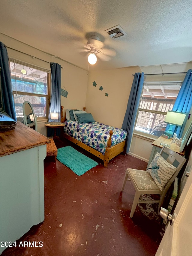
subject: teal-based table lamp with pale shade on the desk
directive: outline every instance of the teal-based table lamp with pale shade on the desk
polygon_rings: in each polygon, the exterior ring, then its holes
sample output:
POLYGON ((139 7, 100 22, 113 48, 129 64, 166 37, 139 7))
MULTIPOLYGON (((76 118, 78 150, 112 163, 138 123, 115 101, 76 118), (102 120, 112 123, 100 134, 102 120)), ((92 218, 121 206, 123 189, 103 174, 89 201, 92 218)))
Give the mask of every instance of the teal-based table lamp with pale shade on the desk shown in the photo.
POLYGON ((173 136, 173 126, 182 126, 186 113, 176 112, 176 111, 168 111, 165 117, 165 123, 169 124, 169 129, 165 131, 165 135, 172 137, 173 136))

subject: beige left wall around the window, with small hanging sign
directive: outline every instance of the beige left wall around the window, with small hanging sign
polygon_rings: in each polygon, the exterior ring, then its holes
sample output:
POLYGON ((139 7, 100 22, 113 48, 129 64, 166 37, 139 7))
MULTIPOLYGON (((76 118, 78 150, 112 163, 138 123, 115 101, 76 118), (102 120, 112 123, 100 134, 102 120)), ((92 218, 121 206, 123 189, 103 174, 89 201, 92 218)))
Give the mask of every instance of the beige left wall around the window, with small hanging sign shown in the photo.
MULTIPOLYGON (((85 106, 88 80, 87 71, 52 57, 49 54, 43 53, 5 35, 0 34, 0 41, 6 45, 8 56, 15 60, 32 64, 40 68, 45 68, 47 70, 50 70, 50 62, 60 64, 61 67, 63 67, 61 68, 61 88, 66 89, 68 92, 67 98, 61 96, 61 105, 64 106, 64 109, 72 107, 82 109, 85 106), (15 50, 9 48, 13 48, 15 50), (44 61, 32 58, 27 54, 44 61)), ((44 126, 45 122, 47 122, 47 120, 38 120, 38 132, 46 136, 46 127, 44 126)))

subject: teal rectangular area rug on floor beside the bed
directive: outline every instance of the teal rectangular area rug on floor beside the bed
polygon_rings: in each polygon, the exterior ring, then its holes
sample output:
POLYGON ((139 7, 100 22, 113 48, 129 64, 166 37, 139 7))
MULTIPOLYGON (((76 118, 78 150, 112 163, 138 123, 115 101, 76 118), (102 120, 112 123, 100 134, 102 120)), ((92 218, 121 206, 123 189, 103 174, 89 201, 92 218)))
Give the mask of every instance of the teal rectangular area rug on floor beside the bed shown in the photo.
POLYGON ((57 159, 79 176, 98 165, 97 162, 81 154, 71 146, 58 149, 57 159))

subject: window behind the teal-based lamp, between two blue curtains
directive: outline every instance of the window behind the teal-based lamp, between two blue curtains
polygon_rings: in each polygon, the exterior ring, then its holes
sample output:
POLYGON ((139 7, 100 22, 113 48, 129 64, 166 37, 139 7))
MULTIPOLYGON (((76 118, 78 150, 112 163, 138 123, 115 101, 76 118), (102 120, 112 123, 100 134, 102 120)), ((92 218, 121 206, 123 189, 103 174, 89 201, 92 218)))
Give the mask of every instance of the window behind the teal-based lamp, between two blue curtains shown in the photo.
POLYGON ((168 110, 172 110, 182 82, 144 82, 135 131, 160 137, 167 126, 168 110))

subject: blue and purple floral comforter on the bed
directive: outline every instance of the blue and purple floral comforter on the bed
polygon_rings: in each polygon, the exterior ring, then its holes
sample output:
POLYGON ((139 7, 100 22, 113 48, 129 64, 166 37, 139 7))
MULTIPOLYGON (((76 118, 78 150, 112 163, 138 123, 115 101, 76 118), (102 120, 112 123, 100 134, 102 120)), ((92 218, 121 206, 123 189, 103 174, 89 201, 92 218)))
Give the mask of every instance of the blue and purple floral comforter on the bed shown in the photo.
POLYGON ((98 122, 80 124, 69 120, 64 124, 64 133, 98 150, 103 155, 105 155, 110 130, 113 131, 111 146, 124 141, 127 137, 127 131, 98 122))

